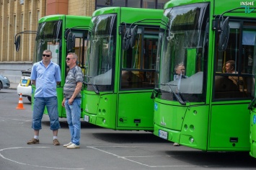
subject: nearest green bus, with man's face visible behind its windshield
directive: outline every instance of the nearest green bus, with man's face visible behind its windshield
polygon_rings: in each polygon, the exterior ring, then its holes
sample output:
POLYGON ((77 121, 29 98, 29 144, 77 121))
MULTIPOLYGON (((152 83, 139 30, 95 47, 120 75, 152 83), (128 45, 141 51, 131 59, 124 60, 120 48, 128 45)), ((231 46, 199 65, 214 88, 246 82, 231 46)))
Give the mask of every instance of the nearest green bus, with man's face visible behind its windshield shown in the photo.
POLYGON ((165 4, 152 93, 154 135, 202 151, 250 151, 252 145, 256 156, 255 112, 250 117, 248 109, 255 97, 256 9, 248 3, 165 4))

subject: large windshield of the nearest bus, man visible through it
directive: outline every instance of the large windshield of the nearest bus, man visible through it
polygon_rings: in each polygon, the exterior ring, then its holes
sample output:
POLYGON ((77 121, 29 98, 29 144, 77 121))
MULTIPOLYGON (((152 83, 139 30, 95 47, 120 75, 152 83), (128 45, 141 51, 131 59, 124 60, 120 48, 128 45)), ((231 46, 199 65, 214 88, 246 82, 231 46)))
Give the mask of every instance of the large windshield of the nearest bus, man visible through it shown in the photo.
POLYGON ((203 102, 206 93, 208 59, 208 4, 192 4, 167 9, 169 29, 164 32, 158 86, 162 99, 203 102), (166 95, 165 95, 166 94, 166 95), (203 94, 203 95, 202 95, 203 94))

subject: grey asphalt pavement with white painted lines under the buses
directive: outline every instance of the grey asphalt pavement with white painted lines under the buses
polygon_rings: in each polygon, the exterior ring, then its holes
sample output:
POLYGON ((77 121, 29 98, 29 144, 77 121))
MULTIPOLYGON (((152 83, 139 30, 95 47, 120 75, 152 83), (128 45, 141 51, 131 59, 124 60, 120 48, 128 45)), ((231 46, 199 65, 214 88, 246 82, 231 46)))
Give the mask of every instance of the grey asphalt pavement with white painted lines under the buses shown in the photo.
POLYGON ((31 104, 16 109, 16 89, 0 90, 0 170, 32 169, 256 169, 248 152, 204 152, 173 143, 144 131, 116 131, 81 120, 81 148, 67 149, 69 127, 61 118, 53 146, 48 115, 43 116, 40 144, 27 145, 33 137, 31 104))

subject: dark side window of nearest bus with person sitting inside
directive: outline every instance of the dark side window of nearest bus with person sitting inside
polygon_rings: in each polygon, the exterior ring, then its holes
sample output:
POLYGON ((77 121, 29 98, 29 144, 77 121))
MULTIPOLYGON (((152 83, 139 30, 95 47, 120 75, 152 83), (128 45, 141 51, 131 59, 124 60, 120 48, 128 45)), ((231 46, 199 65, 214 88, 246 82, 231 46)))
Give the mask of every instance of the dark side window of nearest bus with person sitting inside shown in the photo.
POLYGON ((249 98, 254 94, 252 68, 255 60, 256 32, 240 24, 229 22, 230 34, 227 48, 225 51, 216 50, 215 99, 249 98), (225 79, 219 76, 224 76, 225 79), (232 84, 226 79, 230 79, 232 84))

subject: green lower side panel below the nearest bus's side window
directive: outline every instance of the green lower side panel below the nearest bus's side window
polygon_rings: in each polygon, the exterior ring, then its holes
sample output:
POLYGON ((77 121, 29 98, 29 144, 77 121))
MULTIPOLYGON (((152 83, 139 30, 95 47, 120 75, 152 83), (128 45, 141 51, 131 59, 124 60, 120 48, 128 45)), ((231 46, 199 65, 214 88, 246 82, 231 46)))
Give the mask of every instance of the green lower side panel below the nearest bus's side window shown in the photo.
POLYGON ((216 104, 211 108, 209 148, 249 151, 248 104, 216 104))

